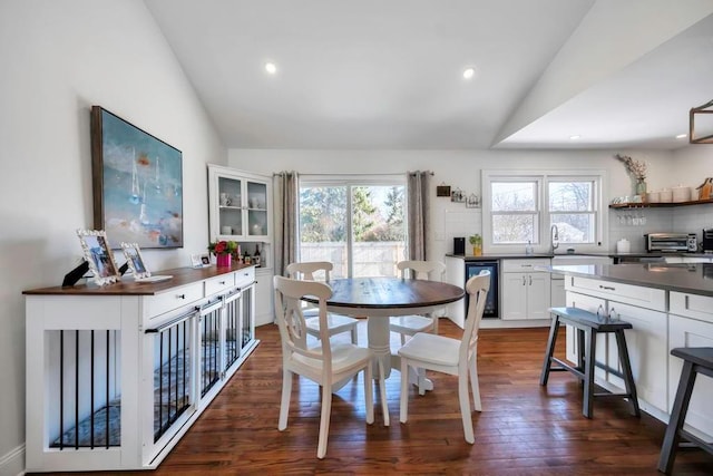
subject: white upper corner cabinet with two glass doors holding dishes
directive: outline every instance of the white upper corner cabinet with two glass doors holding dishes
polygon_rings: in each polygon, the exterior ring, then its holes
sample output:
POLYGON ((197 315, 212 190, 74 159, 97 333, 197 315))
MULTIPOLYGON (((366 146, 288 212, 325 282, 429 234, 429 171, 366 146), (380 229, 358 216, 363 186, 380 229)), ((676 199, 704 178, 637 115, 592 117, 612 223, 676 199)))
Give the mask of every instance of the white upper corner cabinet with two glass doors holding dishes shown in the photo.
POLYGON ((271 242, 272 179, 208 165, 211 240, 271 242))

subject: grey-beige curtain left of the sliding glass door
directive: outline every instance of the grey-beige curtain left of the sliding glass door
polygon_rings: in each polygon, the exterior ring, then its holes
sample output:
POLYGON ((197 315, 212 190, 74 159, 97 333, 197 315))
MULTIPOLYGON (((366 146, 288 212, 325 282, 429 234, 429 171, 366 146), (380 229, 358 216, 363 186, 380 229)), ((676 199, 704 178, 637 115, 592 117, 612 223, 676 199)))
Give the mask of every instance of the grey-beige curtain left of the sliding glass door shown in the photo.
POLYGON ((275 190, 275 274, 285 275, 287 264, 297 261, 297 194, 296 172, 281 172, 273 177, 275 190))

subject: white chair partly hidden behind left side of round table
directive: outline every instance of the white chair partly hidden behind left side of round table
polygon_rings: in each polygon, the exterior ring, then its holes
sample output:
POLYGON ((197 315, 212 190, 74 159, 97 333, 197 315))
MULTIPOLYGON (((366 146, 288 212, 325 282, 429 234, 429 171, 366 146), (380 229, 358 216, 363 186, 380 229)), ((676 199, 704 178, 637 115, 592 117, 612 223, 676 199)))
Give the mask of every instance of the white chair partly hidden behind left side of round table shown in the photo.
MULTIPOLYGON (((315 281, 315 274, 322 273, 325 282, 330 281, 330 271, 332 271, 333 264, 329 261, 310 261, 303 263, 290 263, 287 264, 287 274, 292 279, 315 281)), ((303 310, 305 322, 307 326, 307 333, 315 338, 320 338, 320 319, 316 315, 316 310, 307 309, 303 310)), ((350 318, 348 315, 334 314, 330 312, 326 319, 326 326, 329 336, 335 336, 342 332, 351 332, 352 343, 359 343, 359 331, 356 329, 359 320, 350 318)))

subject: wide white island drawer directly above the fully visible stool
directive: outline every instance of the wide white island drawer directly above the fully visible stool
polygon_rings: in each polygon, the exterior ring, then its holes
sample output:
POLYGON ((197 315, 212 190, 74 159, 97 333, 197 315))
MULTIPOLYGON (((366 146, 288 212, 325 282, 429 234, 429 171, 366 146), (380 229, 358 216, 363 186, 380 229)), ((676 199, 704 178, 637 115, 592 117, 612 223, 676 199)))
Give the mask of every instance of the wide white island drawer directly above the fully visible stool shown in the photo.
POLYGON ((662 289, 644 288, 612 281, 593 280, 589 278, 567 276, 567 291, 596 295, 604 299, 638 305, 641 308, 666 311, 666 291, 662 289))

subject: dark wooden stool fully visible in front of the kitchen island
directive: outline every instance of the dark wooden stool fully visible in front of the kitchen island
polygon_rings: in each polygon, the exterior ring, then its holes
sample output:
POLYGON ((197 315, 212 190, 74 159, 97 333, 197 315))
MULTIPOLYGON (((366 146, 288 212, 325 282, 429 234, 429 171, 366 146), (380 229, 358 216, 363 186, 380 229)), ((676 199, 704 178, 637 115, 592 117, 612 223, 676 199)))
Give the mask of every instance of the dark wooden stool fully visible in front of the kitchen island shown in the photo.
POLYGON ((638 417, 638 399, 636 398, 636 385, 632 375, 632 366, 628 359, 628 349, 626 348, 625 329, 632 329, 632 324, 624 321, 612 320, 608 317, 598 315, 577 308, 551 308, 549 310, 555 317, 549 328, 549 339, 547 341, 547 350, 545 352, 545 362, 543 363, 543 372, 540 373, 539 385, 546 386, 550 371, 569 371, 580 380, 584 380, 584 402, 582 414, 592 418, 594 397, 624 397, 628 398, 632 405, 632 415, 638 417), (565 362, 553 356, 555 343, 557 342, 557 333, 560 323, 573 326, 577 329, 577 367, 565 362), (616 346, 619 353, 619 362, 622 363, 622 372, 616 369, 596 363, 596 340, 599 333, 613 332, 616 337, 616 346), (553 366, 554 363, 554 366, 553 366), (594 368, 595 366, 624 379, 626 386, 625 394, 595 394, 594 392, 594 368))

